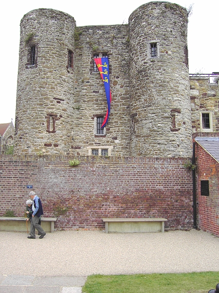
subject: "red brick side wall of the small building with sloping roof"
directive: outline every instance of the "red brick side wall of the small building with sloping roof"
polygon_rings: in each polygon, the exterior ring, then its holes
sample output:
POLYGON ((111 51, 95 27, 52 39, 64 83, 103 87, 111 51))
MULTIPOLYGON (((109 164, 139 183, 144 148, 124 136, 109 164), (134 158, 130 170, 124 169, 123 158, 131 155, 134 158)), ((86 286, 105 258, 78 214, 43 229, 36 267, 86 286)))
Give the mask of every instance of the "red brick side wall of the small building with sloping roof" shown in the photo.
POLYGON ((219 163, 196 144, 199 228, 219 236, 219 163), (209 196, 201 195, 201 180, 209 180, 209 196))

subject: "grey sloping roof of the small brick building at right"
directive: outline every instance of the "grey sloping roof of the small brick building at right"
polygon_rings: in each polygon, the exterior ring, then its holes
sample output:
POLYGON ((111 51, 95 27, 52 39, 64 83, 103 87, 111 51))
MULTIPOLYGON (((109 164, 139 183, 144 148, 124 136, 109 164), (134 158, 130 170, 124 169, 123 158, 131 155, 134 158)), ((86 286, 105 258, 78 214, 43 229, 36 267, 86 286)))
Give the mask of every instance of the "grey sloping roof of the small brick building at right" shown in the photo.
POLYGON ((219 163, 219 137, 196 137, 195 141, 219 163))

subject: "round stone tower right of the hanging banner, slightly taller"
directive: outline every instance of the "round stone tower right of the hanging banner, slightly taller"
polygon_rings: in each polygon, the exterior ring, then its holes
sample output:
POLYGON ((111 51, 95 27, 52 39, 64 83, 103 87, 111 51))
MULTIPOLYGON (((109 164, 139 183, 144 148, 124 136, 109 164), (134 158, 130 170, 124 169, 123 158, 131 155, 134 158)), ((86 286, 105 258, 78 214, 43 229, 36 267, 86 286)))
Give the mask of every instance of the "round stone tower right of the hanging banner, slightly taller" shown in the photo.
POLYGON ((187 13, 153 1, 129 17, 130 154, 191 157, 187 13))

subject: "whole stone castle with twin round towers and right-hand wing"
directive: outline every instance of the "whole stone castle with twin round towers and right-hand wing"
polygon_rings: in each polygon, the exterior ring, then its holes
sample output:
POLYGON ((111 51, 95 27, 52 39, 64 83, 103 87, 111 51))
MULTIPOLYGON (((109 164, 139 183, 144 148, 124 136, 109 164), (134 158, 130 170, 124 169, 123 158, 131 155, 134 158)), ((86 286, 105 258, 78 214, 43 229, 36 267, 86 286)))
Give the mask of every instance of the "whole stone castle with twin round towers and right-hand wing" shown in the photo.
POLYGON ((189 77, 186 9, 153 1, 128 24, 83 27, 53 9, 24 15, 15 128, 15 154, 191 157, 193 135, 219 131, 219 89, 189 77))

